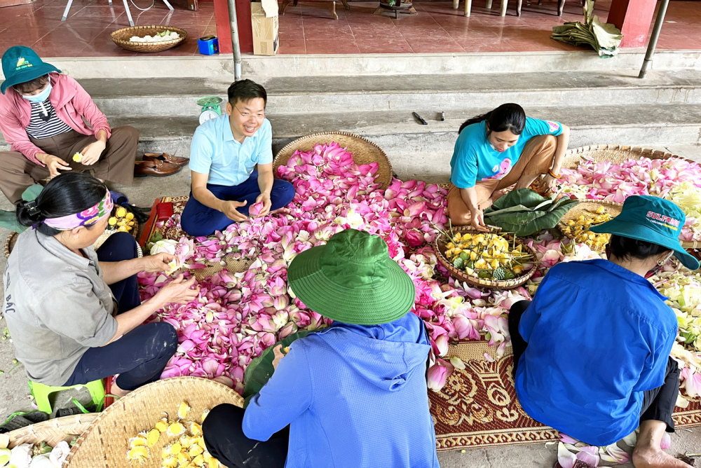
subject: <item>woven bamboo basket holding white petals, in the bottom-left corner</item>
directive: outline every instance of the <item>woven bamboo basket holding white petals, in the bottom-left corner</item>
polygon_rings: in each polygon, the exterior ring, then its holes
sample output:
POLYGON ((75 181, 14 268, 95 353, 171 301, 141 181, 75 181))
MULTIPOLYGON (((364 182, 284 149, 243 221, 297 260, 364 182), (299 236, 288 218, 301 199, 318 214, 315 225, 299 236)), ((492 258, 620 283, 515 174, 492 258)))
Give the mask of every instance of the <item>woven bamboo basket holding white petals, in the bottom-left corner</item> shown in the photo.
POLYGON ((55 446, 61 441, 71 442, 76 437, 86 432, 88 427, 97 419, 97 413, 79 414, 55 418, 44 422, 16 429, 8 432, 10 436, 10 448, 22 443, 48 443, 55 446))

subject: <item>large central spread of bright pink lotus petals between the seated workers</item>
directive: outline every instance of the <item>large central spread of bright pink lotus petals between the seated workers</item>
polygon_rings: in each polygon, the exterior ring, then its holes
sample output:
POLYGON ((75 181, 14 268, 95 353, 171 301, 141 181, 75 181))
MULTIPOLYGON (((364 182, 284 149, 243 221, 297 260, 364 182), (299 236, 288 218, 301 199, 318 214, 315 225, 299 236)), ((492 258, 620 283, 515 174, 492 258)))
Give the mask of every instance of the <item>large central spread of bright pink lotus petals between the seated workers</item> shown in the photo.
MULTIPOLYGON (((189 268, 224 263, 225 256, 254 260, 243 273, 223 271, 200 281, 197 301, 168 305, 158 312, 161 321, 175 326, 179 347, 163 377, 201 376, 222 381, 238 392, 252 359, 276 341, 299 330, 329 324, 308 310, 287 288, 287 266, 297 254, 325 244, 346 228, 365 230, 386 240, 390 256, 414 280, 416 298, 411 312, 428 329, 432 352, 428 385, 440 390, 460 359, 448 359, 453 340, 488 340, 501 357, 510 345, 508 310, 536 290, 547 269, 559 261, 599 258, 585 245, 554 240, 545 234, 530 241, 541 261, 525 288, 481 291, 447 277, 430 247, 445 228, 447 190, 423 181, 393 179, 382 190, 376 183, 376 163, 356 165, 351 153, 336 143, 295 152, 278 176, 295 189, 286 213, 234 223, 208 238, 182 238, 176 247, 189 268)), ((179 215, 164 226, 177 226, 179 215)), ((190 275, 186 271, 186 275, 190 275)), ((164 274, 140 273, 142 300, 170 281, 164 274)))

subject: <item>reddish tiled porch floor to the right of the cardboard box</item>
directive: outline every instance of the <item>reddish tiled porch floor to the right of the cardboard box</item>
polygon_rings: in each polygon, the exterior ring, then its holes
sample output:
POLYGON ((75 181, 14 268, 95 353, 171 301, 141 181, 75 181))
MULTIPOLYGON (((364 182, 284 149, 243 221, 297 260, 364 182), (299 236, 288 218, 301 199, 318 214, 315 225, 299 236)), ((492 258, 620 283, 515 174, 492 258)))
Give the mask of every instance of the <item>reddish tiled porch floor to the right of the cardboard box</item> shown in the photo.
MULTIPOLYGON (((499 16, 499 0, 491 10, 482 0, 472 4, 470 18, 463 17, 463 3, 453 10, 450 1, 414 3, 418 15, 373 15, 377 3, 351 2, 346 11, 336 7, 334 21, 325 6, 300 1, 280 15, 280 54, 329 53, 462 53, 580 50, 550 39, 552 27, 566 21, 583 21, 578 1, 567 1, 557 16, 557 1, 538 6, 524 1, 521 17, 515 2, 505 17, 499 16)), ((597 1, 595 12, 608 17, 611 1, 597 1)), ((660 49, 701 50, 701 2, 672 1, 658 41, 660 49)))

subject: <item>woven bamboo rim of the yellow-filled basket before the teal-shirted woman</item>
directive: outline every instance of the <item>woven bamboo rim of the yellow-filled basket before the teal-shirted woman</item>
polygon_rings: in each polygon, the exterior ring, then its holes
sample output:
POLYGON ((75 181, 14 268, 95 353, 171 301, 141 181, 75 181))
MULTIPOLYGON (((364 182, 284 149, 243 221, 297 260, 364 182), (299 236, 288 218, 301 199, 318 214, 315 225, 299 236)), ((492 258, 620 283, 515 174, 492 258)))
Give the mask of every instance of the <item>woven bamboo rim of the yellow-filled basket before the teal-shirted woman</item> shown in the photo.
MULTIPOLYGON (((453 226, 452 229, 453 233, 474 233, 474 234, 479 234, 479 231, 475 230, 472 228, 472 226, 453 226)), ((496 226, 491 226, 491 233, 499 233, 501 231, 501 228, 497 228, 496 226)), ((510 234, 500 234, 505 238, 506 240, 512 240, 513 237, 510 234)), ((529 252, 533 254, 533 261, 529 263, 533 263, 533 268, 530 270, 526 271, 523 275, 517 276, 515 278, 512 278, 511 280, 487 280, 485 278, 477 278, 472 275, 468 275, 465 273, 463 270, 459 268, 455 268, 452 263, 450 263, 445 256, 445 251, 447 250, 445 245, 447 244, 448 240, 444 235, 437 235, 436 240, 434 242, 435 246, 435 252, 438 256, 438 261, 440 261, 441 265, 444 266, 447 270, 448 273, 454 277, 456 280, 461 280, 463 282, 467 282, 468 284, 471 284, 472 286, 478 286, 478 287, 485 287, 488 289, 514 289, 519 286, 522 286, 523 284, 526 284, 526 282, 531 279, 531 276, 533 276, 533 273, 536 273, 536 270, 538 270, 538 266, 540 265, 540 260, 538 260, 538 256, 536 255, 536 251, 531 249, 528 245, 524 244, 519 238, 516 238, 516 243, 519 245, 522 245, 524 249, 526 249, 526 252, 529 252)))

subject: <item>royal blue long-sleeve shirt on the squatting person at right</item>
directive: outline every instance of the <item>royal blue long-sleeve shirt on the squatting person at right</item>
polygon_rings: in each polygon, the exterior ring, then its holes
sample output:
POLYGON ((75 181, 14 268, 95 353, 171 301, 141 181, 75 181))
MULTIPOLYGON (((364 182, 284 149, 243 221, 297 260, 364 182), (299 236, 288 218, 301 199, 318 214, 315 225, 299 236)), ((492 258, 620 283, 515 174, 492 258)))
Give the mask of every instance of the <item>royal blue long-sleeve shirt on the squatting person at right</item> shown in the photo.
POLYGON ((665 381, 674 312, 653 285, 607 260, 559 263, 524 312, 516 393, 531 418, 596 446, 639 425, 665 381))

